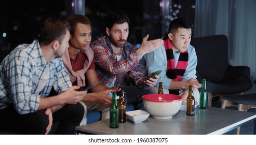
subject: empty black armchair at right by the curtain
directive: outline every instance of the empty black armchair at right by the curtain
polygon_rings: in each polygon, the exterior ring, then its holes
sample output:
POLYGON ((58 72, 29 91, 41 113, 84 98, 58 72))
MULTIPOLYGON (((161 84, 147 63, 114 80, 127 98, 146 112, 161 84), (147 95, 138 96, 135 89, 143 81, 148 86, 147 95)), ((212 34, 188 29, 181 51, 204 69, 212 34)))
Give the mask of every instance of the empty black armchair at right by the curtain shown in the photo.
POLYGON ((242 94, 253 86, 248 66, 230 64, 230 48, 225 35, 192 38, 197 54, 197 79, 207 80, 208 106, 213 96, 242 94))

